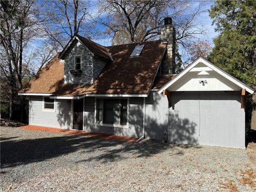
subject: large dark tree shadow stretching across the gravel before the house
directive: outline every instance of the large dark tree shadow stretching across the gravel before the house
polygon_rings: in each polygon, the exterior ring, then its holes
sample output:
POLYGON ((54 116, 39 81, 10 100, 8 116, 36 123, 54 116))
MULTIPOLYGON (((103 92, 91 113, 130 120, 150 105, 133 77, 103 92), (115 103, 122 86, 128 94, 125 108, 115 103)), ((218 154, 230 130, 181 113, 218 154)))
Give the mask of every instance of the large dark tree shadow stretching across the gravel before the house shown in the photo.
POLYGON ((129 158, 129 156, 124 156, 122 153, 136 154, 136 157, 148 157, 174 147, 198 148, 199 146, 169 145, 153 140, 129 143, 119 140, 79 137, 77 135, 9 140, 1 141, 1 168, 41 162, 54 157, 68 155, 77 150, 81 150, 84 154, 84 157, 79 157, 82 159, 77 159, 78 162, 95 160, 106 163, 129 158), (92 158, 86 158, 86 153, 90 154, 95 150, 102 150, 102 153, 92 158))

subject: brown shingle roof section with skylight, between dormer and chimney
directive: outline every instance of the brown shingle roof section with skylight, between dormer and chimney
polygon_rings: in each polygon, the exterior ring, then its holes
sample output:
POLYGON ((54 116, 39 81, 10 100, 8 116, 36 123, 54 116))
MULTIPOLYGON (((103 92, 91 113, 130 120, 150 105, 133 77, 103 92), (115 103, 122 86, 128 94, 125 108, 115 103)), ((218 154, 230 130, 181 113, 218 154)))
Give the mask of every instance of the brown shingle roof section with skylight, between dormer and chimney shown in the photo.
POLYGON ((131 58, 130 55, 138 44, 108 47, 114 61, 103 69, 87 94, 147 94, 166 44, 161 41, 142 43, 144 48, 140 56, 131 58))

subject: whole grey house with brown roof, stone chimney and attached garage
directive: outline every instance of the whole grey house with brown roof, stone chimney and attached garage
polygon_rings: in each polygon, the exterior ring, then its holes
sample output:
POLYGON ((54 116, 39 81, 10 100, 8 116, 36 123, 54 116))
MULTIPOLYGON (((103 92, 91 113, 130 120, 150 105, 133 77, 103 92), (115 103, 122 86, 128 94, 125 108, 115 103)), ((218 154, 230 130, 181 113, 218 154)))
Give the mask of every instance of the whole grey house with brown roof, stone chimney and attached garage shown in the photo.
POLYGON ((29 124, 176 143, 245 147, 254 90, 199 57, 180 74, 175 30, 158 41, 102 46, 79 35, 19 91, 29 124))

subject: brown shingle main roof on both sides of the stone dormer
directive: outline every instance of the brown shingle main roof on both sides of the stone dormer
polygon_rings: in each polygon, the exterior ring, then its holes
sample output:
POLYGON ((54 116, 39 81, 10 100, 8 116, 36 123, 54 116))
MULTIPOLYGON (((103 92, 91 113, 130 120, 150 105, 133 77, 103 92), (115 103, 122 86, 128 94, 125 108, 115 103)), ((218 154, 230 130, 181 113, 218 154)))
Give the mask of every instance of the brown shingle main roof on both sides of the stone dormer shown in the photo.
POLYGON ((162 60, 166 44, 161 41, 141 43, 139 57, 130 57, 139 43, 106 47, 114 61, 109 61, 92 85, 63 83, 64 63, 58 55, 20 93, 52 93, 58 96, 83 94, 147 94, 162 60))

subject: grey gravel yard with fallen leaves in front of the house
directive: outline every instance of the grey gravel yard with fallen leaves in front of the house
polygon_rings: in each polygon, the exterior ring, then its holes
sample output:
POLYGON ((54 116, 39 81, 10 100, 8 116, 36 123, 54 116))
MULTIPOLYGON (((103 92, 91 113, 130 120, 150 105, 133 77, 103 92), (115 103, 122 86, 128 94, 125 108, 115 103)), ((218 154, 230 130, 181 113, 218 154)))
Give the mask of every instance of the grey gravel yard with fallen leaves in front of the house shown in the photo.
POLYGON ((254 191, 245 149, 1 127, 2 191, 254 191))

